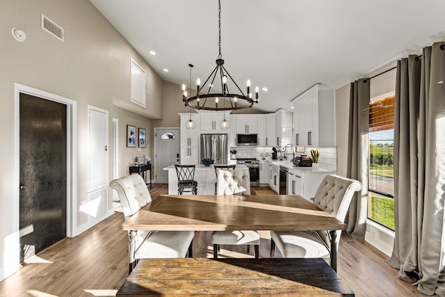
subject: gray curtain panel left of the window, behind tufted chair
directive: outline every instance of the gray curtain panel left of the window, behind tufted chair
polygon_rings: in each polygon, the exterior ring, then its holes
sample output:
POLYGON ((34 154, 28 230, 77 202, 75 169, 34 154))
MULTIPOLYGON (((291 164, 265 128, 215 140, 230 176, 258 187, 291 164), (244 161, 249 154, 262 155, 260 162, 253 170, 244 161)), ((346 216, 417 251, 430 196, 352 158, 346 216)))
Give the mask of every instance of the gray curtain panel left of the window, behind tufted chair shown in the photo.
POLYGON ((364 240, 368 201, 369 168, 369 79, 350 85, 348 169, 346 177, 362 183, 346 215, 346 232, 353 239, 364 240))

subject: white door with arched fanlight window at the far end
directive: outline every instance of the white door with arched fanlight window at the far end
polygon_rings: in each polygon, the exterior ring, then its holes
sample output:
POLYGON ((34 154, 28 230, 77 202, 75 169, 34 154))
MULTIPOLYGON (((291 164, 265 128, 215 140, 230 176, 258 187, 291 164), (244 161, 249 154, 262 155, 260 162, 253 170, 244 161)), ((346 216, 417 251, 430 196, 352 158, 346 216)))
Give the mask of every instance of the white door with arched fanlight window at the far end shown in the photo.
POLYGON ((179 128, 156 128, 156 184, 168 183, 168 170, 163 168, 179 163, 179 128))

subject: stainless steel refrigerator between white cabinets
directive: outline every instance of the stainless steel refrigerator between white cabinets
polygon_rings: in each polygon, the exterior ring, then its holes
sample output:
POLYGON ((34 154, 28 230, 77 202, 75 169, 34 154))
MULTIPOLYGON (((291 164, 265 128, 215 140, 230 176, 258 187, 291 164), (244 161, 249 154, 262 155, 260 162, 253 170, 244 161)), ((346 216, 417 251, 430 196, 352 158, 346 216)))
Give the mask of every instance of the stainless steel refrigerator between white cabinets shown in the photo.
POLYGON ((213 159, 214 164, 228 164, 227 134, 201 134, 201 159, 213 159))

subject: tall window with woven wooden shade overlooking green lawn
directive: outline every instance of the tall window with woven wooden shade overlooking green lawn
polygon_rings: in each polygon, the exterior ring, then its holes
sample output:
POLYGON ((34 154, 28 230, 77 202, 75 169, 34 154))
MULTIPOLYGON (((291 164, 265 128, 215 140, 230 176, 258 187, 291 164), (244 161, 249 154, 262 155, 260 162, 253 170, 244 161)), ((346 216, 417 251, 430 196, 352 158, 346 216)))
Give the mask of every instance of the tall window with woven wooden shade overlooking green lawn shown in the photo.
POLYGON ((394 230, 394 95, 369 103, 368 218, 394 230))

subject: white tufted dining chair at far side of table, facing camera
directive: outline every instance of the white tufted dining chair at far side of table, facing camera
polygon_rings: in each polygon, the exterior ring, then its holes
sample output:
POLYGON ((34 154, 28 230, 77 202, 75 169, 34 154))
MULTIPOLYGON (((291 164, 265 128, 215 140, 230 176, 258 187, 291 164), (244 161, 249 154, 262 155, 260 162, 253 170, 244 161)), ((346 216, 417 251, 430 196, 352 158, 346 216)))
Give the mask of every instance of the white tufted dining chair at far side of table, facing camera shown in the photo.
MULTIPOLYGON (((218 170, 216 195, 250 195, 249 169, 218 170)), ((230 198, 227 198, 230 199, 230 198)), ((215 231, 211 234, 213 258, 218 258, 221 244, 228 246, 254 246, 255 258, 259 258, 259 234, 252 230, 215 231)))

